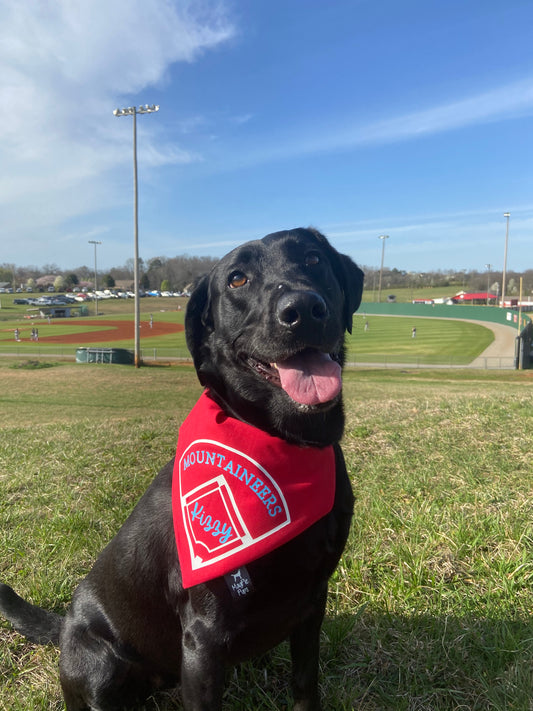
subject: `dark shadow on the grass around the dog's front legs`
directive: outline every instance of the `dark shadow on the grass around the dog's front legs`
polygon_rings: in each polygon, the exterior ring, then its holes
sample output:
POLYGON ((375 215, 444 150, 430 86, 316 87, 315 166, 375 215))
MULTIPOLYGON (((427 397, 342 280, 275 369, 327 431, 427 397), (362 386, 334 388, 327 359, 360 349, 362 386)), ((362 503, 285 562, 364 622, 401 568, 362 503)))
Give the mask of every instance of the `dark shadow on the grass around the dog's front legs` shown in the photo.
MULTIPOLYGON (((529 711, 530 620, 457 619, 364 612, 326 618, 321 694, 326 711, 529 711)), ((228 672, 224 709, 291 708, 284 643, 228 672)), ((181 709, 161 694, 145 711, 181 709)))

